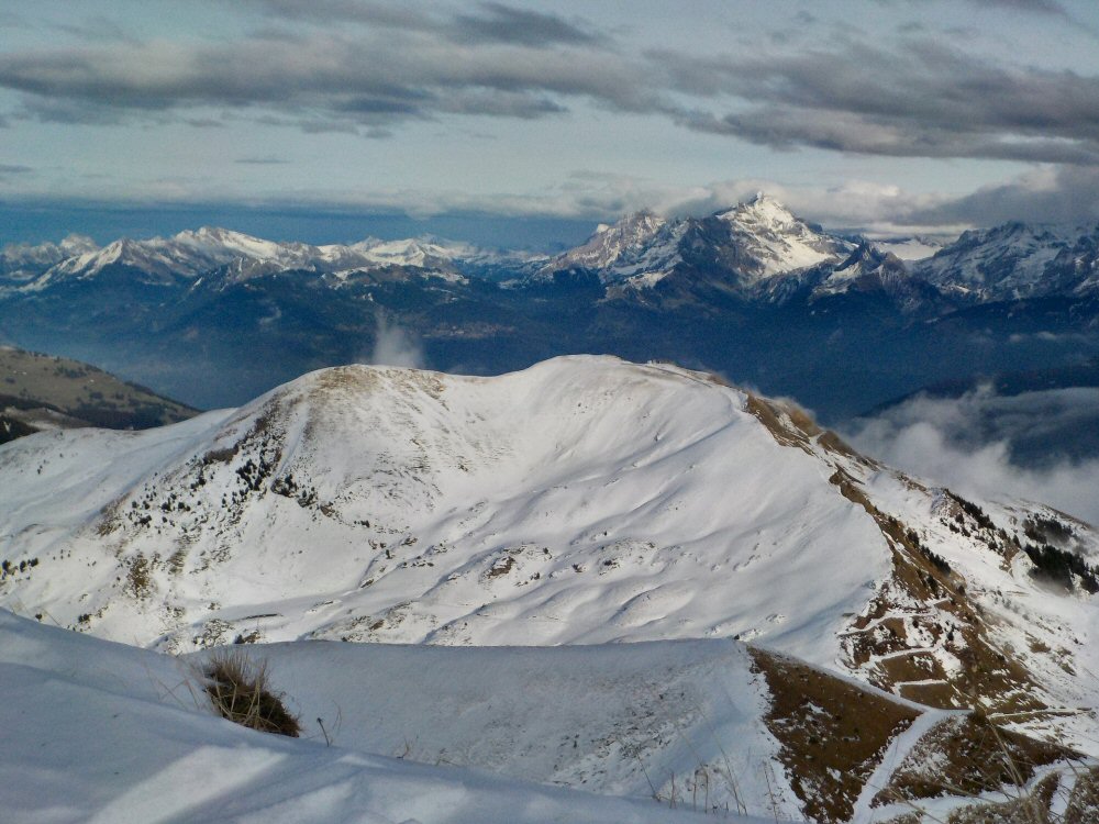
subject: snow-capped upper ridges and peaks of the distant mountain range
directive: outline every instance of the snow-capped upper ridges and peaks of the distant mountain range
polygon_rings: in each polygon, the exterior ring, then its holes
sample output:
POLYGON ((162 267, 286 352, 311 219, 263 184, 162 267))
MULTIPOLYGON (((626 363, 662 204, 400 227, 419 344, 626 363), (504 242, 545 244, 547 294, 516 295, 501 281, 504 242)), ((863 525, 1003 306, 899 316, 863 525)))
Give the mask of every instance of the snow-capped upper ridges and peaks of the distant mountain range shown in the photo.
MULTIPOLYGON (((893 275, 902 269, 913 283, 935 292, 909 285, 902 302, 910 309, 921 303, 918 296, 923 294, 930 301, 925 308, 933 308, 940 299, 957 304, 1099 293, 1099 227, 1092 225, 1008 223, 966 232, 946 246, 919 237, 869 243, 900 258, 893 275)), ((811 293, 820 272, 842 265, 857 245, 759 193, 701 219, 671 220, 643 210, 614 224, 599 224, 586 243, 551 258, 429 236, 314 246, 206 226, 171 237, 120 238, 99 248, 90 238, 74 235, 59 244, 5 247, 0 253, 0 286, 42 290, 92 279, 115 265, 138 270, 146 282, 185 286, 208 272, 226 282, 288 270, 331 274, 342 280, 386 267, 452 281, 486 275, 519 286, 551 281, 556 272, 585 270, 595 272, 611 292, 644 293, 671 278, 671 291, 717 288, 774 301, 811 293), (802 276, 814 281, 808 290, 802 289, 802 276)), ((828 293, 852 287, 843 277, 834 278, 828 293)))

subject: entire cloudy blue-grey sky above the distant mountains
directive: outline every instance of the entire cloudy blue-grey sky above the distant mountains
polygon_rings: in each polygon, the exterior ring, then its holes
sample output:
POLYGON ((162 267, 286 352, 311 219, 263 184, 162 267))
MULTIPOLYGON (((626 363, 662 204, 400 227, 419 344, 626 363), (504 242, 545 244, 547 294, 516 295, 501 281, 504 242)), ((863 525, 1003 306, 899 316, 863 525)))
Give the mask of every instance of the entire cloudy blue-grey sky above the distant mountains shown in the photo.
POLYGON ((8 0, 0 244, 1099 220, 1095 0, 8 0), (211 218, 217 218, 212 220, 211 218))

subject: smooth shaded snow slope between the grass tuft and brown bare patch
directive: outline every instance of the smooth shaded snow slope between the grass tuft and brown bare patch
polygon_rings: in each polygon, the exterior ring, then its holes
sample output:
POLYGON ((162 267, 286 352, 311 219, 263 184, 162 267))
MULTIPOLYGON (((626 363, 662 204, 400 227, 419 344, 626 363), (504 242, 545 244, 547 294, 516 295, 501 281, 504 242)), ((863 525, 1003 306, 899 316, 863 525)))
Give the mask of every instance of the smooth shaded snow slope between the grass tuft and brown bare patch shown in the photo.
POLYGON ((774 798, 801 814, 766 726, 766 682, 739 644, 295 642, 255 654, 293 697, 307 735, 322 735, 320 717, 340 745, 629 798, 670 800, 673 781, 677 797, 688 781, 699 806, 706 794, 709 806, 761 813, 774 798))

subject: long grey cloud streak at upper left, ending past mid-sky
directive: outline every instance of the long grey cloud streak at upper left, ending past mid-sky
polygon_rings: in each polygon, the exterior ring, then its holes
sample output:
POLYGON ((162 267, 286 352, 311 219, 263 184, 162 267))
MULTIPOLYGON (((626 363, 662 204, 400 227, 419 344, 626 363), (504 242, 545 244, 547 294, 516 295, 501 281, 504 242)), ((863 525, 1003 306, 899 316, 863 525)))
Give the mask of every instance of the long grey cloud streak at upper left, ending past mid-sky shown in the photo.
POLYGON ((653 71, 597 48, 464 45, 410 32, 0 56, 0 86, 24 93, 24 115, 67 123, 227 107, 342 129, 441 113, 537 118, 575 98, 647 111, 657 93, 636 82, 645 74, 653 71))

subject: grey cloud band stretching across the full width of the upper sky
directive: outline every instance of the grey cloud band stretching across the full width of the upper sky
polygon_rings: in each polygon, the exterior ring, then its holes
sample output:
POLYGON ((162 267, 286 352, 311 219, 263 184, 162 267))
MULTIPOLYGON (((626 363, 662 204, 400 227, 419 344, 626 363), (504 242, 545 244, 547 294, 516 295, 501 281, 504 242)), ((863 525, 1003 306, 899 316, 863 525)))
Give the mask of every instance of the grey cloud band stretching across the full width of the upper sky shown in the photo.
MULTIPOLYGON (((1048 1, 1001 5, 1064 13, 1048 1)), ((202 109, 387 136, 415 120, 539 119, 592 104, 776 149, 1099 163, 1099 78, 992 59, 959 36, 779 38, 700 54, 636 49, 585 20, 502 2, 247 8, 258 25, 235 41, 103 44, 100 25, 81 46, 9 51, 0 87, 23 96, 14 116, 67 123, 202 109)))

